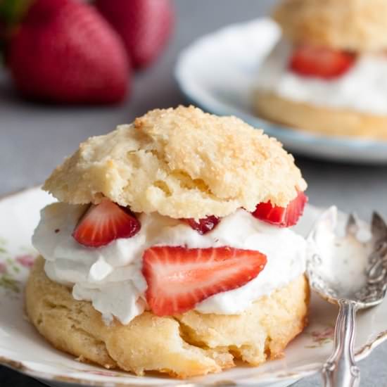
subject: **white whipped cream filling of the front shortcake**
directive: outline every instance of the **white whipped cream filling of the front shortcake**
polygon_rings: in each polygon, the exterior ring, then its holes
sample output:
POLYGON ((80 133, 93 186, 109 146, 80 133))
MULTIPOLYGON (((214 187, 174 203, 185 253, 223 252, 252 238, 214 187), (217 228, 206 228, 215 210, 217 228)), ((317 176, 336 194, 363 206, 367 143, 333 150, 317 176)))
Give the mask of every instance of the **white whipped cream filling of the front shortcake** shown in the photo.
POLYGON ((305 271, 305 239, 291 229, 261 222, 245 210, 222 218, 205 235, 170 217, 141 214, 138 234, 100 248, 82 246, 71 236, 85 210, 84 205, 48 205, 41 212, 32 243, 46 259, 47 276, 72 286, 72 296, 91 301, 106 322, 116 317, 122 324, 128 324, 146 310, 147 284, 141 273, 141 258, 151 246, 230 246, 259 250, 267 255, 265 269, 248 284, 198 303, 195 310, 203 313, 241 313, 260 296, 286 286, 305 271))

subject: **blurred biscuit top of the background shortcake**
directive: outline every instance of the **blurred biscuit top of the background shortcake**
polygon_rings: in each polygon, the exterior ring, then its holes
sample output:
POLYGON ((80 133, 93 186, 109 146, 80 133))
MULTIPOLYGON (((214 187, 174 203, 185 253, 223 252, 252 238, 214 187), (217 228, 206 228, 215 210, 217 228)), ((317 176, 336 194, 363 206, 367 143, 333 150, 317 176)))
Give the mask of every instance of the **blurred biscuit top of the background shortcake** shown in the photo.
POLYGON ((274 19, 294 43, 348 51, 387 48, 386 0, 285 0, 274 19))

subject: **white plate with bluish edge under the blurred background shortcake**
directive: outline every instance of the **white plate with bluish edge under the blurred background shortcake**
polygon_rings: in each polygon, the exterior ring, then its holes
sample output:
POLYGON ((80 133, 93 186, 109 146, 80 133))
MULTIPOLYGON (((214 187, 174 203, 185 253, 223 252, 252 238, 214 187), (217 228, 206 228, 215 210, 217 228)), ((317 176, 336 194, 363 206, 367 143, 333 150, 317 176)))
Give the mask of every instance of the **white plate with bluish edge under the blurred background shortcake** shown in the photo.
POLYGON ((251 89, 262 58, 279 36, 277 24, 260 18, 201 37, 179 56, 175 68, 179 87, 196 105, 218 115, 237 115, 265 129, 294 153, 356 163, 387 163, 387 141, 327 137, 254 115, 251 89))

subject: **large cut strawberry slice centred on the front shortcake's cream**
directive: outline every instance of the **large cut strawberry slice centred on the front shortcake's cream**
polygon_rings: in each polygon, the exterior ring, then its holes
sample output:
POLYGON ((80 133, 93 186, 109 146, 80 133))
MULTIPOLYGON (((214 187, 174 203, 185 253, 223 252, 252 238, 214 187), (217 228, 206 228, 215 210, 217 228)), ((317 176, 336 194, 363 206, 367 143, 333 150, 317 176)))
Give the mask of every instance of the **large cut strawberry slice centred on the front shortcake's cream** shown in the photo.
POLYGON ((148 248, 142 268, 148 284, 146 300, 155 315, 183 313, 216 293, 243 286, 265 265, 266 256, 253 250, 148 248))

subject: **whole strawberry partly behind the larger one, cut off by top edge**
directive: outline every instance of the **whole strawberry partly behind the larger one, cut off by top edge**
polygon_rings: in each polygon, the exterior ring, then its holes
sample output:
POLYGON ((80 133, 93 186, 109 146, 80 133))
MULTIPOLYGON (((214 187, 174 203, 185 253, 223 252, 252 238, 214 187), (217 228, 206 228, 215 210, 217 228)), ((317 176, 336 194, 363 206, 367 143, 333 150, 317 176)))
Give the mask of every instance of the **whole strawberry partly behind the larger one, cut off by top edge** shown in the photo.
POLYGON ((96 0, 96 7, 121 35, 136 68, 150 65, 172 32, 170 0, 96 0))

